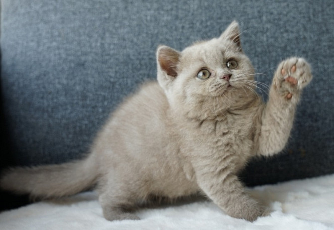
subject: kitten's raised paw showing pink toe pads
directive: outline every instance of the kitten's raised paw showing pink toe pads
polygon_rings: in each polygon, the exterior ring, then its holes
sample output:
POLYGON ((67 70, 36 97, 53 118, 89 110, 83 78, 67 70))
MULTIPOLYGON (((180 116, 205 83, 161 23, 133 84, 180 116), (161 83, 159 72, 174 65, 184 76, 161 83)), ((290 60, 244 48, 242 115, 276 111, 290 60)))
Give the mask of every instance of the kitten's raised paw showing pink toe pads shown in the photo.
POLYGON ((312 79, 311 67, 303 58, 288 58, 277 68, 274 83, 285 92, 286 98, 291 99, 299 93, 312 79))

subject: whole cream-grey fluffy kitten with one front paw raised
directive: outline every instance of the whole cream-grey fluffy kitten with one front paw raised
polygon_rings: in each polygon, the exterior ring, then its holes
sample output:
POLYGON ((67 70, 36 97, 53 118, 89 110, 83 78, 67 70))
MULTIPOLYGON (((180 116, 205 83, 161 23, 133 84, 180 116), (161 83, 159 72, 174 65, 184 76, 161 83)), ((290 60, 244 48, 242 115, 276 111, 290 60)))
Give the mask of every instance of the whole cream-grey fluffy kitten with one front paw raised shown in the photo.
POLYGON ((95 185, 111 221, 139 219, 133 211, 150 200, 196 193, 231 217, 263 216, 265 207, 237 174, 251 157, 284 148, 302 89, 312 79, 310 65, 297 57, 282 61, 264 103, 233 21, 220 37, 181 52, 159 46, 157 67, 158 81, 144 84, 119 106, 85 158, 12 168, 0 186, 52 198, 95 185))

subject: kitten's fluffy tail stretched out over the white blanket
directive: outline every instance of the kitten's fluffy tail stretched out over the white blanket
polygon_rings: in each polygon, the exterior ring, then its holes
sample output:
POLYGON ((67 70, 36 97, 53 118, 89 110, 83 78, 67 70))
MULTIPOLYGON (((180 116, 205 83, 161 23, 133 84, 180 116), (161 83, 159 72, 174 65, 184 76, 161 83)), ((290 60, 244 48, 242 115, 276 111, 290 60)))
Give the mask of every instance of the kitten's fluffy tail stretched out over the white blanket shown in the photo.
POLYGON ((98 169, 94 154, 64 164, 31 168, 16 167, 4 172, 0 188, 32 198, 69 196, 91 188, 97 183, 98 169))

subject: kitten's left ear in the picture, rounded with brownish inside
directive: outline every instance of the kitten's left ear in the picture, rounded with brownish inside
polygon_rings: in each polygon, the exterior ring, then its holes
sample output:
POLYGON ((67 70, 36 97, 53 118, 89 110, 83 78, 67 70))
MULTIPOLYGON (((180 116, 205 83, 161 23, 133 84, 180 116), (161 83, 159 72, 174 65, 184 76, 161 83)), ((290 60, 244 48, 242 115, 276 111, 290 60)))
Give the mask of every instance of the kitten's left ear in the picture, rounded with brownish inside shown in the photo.
POLYGON ((158 81, 161 86, 167 86, 177 76, 177 66, 180 59, 180 52, 162 45, 157 50, 158 81))

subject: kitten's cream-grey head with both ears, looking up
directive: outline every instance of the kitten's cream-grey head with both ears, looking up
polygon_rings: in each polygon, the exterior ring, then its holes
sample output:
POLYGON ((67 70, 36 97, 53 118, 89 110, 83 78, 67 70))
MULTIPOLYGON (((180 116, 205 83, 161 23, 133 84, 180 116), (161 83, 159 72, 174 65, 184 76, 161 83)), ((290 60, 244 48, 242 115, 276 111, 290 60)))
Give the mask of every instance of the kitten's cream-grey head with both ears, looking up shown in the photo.
POLYGON ((242 51, 235 21, 219 38, 197 42, 182 52, 160 46, 157 62, 158 82, 170 106, 188 117, 216 117, 254 96, 254 68, 242 51))

